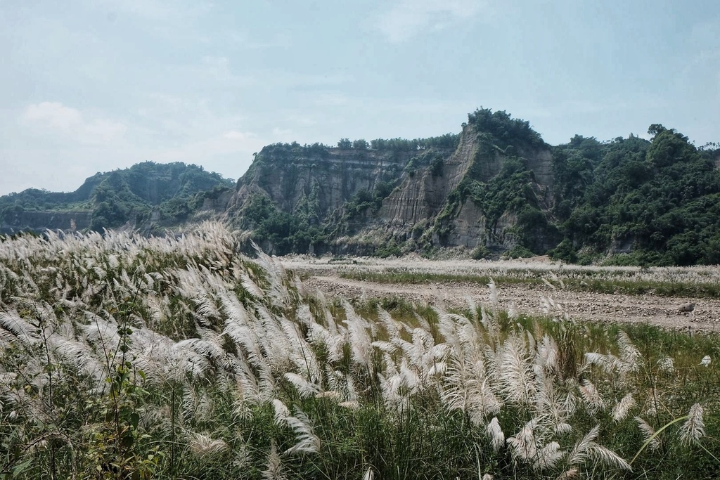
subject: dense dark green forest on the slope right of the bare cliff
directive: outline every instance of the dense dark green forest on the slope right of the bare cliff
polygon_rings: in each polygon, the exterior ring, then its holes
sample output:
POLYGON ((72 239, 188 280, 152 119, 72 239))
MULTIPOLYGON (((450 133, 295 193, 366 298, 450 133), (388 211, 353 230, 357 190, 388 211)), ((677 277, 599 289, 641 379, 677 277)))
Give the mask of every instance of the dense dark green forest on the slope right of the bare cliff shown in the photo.
POLYGON ((575 137, 554 149, 554 214, 566 237, 560 258, 626 248, 616 261, 648 265, 720 263, 718 150, 698 150, 652 125, 651 141, 575 137))

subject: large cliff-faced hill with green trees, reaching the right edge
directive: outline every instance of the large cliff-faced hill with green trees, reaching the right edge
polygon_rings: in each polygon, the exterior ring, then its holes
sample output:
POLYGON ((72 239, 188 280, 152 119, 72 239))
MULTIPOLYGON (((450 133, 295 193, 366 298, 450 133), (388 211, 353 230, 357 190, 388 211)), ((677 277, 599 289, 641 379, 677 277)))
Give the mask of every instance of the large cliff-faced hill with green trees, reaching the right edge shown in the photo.
POLYGON ((718 145, 654 124, 546 144, 528 122, 479 109, 459 135, 274 144, 240 178, 225 219, 273 253, 720 263, 718 145))

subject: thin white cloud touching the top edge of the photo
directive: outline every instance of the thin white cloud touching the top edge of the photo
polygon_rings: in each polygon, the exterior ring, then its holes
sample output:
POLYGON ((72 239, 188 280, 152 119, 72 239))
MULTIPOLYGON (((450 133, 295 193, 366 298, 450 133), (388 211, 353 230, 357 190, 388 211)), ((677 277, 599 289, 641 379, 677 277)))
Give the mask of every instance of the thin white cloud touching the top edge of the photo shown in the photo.
POLYGON ((471 19, 484 4, 482 0, 398 0, 381 15, 378 28, 390 42, 403 42, 420 30, 443 30, 471 19))

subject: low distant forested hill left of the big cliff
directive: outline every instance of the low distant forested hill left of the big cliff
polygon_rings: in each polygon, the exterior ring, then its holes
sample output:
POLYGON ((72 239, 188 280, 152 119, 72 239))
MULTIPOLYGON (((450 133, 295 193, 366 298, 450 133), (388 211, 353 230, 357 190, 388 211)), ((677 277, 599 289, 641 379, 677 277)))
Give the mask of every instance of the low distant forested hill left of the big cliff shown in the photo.
POLYGON ((176 226, 228 194, 233 183, 185 163, 138 163, 96 173, 76 191, 27 189, 0 196, 0 233, 128 226, 145 232, 176 226))

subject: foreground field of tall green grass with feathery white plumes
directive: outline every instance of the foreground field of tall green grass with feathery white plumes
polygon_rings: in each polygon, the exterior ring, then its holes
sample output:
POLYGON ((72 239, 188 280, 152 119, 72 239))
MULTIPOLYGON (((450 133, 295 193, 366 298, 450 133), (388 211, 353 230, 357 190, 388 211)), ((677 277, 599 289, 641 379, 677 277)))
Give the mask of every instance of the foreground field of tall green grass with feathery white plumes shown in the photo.
POLYGON ((238 245, 217 224, 0 243, 0 478, 720 469, 717 338, 350 304, 238 245))

